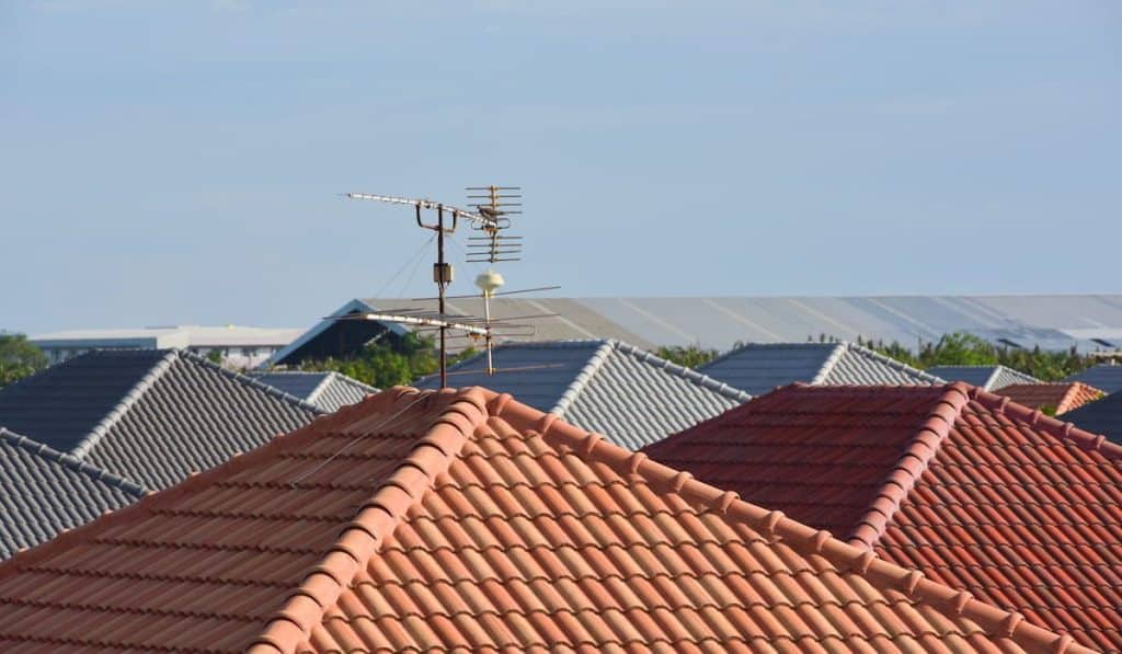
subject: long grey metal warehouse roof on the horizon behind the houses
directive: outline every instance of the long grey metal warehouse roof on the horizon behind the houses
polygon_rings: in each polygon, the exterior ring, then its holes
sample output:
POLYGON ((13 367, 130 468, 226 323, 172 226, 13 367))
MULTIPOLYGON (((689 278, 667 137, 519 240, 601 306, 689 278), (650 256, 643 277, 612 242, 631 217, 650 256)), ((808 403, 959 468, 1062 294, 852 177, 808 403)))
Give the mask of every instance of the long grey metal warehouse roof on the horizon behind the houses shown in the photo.
MULTIPOLYGON (((337 313, 403 306, 435 310, 435 301, 366 298, 348 302, 337 313)), ((559 314, 533 321, 535 340, 616 339, 644 349, 697 344, 726 351, 738 342, 799 342, 817 340, 819 334, 846 341, 858 337, 896 341, 914 349, 920 341, 936 341, 958 331, 1021 348, 1122 349, 1122 294, 500 297, 493 301, 491 308, 497 317, 559 314)), ((481 315, 482 305, 478 298, 457 298, 449 301, 449 311, 481 315)), ((273 362, 286 362, 332 324, 320 322, 273 362)))

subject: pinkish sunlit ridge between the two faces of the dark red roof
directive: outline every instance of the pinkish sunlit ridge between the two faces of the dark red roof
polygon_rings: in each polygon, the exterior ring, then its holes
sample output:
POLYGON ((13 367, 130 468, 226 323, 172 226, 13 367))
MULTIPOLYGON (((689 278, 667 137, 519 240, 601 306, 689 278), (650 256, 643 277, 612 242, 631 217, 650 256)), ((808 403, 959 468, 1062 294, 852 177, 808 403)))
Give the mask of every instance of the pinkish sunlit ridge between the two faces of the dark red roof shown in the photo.
POLYGON ((892 467, 888 477, 877 487, 876 495, 868 504, 846 536, 850 545, 873 550, 881 540, 889 522, 916 482, 927 470, 942 445, 950 430, 954 429, 963 408, 969 404, 969 387, 963 381, 956 381, 945 387, 944 394, 936 399, 934 408, 904 446, 903 453, 892 467), (949 411, 948 411, 949 409, 949 411))

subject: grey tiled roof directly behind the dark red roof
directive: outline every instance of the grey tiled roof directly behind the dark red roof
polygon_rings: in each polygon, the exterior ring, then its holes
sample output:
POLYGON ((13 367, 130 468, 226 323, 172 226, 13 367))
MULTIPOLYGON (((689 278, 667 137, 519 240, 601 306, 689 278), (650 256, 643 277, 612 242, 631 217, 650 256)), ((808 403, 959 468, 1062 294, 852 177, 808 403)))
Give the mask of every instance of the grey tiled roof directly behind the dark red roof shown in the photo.
POLYGON ((807 384, 942 384, 867 348, 845 342, 748 343, 698 371, 753 395, 794 381, 807 384))

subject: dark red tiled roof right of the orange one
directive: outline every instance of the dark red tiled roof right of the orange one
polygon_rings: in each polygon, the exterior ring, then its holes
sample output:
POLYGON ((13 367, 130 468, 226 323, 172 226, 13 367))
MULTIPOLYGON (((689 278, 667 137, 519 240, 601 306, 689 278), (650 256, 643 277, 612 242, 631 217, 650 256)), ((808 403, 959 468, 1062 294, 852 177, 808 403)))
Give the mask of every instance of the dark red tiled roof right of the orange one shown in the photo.
POLYGON ((1038 411, 963 383, 795 385, 644 453, 1122 648, 1122 446, 1038 411))

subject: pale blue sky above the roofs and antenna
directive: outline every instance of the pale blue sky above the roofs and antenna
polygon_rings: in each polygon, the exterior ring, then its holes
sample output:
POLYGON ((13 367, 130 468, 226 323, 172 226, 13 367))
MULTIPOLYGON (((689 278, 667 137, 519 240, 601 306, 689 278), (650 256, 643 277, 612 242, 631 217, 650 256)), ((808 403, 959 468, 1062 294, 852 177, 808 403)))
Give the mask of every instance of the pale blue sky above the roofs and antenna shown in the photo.
POLYGON ((340 194, 491 183, 508 288, 1119 292, 1120 72, 1116 1, 3 2, 0 328, 431 295, 340 194))

